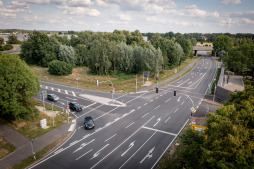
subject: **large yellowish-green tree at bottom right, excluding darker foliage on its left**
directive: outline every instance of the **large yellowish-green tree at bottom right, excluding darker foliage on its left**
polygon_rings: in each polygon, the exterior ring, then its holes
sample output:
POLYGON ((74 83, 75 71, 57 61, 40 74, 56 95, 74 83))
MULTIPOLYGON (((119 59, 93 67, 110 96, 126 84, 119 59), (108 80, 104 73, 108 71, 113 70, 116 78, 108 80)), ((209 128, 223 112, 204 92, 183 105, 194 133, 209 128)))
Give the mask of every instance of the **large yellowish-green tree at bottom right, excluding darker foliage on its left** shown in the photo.
POLYGON ((201 165, 205 168, 254 167, 254 87, 232 94, 228 105, 210 113, 208 139, 201 165))

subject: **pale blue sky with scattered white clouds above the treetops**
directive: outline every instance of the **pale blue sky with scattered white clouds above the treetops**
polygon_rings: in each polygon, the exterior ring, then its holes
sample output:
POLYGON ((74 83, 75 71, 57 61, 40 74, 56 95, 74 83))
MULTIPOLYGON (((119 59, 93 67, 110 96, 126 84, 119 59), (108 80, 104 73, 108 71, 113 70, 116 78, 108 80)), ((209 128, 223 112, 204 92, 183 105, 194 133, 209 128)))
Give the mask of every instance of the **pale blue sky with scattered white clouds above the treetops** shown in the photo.
POLYGON ((254 33, 254 0, 0 0, 0 29, 254 33))

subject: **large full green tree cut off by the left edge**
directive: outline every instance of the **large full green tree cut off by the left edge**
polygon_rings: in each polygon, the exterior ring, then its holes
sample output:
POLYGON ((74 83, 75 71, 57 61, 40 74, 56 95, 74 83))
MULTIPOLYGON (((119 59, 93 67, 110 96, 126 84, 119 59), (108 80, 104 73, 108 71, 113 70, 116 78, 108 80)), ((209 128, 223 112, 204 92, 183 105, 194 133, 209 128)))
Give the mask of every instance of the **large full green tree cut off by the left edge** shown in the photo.
POLYGON ((8 120, 33 113, 31 98, 40 89, 39 79, 17 55, 0 53, 0 116, 8 120))

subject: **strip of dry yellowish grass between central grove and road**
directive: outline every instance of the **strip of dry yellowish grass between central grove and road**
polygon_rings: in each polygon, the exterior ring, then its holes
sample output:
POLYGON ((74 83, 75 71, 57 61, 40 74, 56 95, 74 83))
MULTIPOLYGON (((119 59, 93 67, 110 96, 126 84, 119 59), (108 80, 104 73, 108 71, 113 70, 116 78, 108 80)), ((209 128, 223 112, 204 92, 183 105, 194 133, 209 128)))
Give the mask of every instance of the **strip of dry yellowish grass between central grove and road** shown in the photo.
MULTIPOLYGON (((184 64, 180 66, 179 70, 182 70, 191 60, 187 59, 184 64)), ((89 74, 89 69, 87 67, 78 67, 74 68, 71 75, 68 76, 55 76, 50 75, 47 70, 48 68, 42 68, 39 66, 30 66, 35 74, 43 79, 58 81, 61 83, 70 84, 73 86, 78 86, 80 88, 88 89, 88 90, 97 90, 97 91, 105 91, 110 92, 111 84, 110 83, 100 83, 99 86, 96 86, 96 80, 106 81, 110 80, 114 84, 114 88, 117 93, 129 93, 136 90, 136 75, 115 75, 115 76, 99 76, 99 75, 91 75, 89 74), (78 78, 78 81, 76 81, 78 78)), ((161 72, 159 77, 160 80, 164 80, 174 75, 175 69, 161 72)), ((138 89, 143 88, 143 77, 142 74, 138 75, 138 89)), ((159 80, 159 81, 160 81, 159 80)), ((156 76, 152 76, 149 78, 150 84, 156 83, 156 76)), ((146 82, 146 79, 145 79, 146 82)))

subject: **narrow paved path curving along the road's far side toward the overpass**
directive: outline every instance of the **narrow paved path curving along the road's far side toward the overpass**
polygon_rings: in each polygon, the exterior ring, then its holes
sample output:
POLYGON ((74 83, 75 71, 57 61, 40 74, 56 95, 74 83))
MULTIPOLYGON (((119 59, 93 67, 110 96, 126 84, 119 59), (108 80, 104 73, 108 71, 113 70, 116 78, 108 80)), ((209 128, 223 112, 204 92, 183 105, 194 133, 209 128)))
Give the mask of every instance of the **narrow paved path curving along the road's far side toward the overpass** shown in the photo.
MULTIPOLYGON (((195 63, 196 61, 198 60, 199 58, 196 58, 195 60, 193 60, 190 64, 188 64, 183 70, 181 70, 180 72, 174 74, 173 76, 171 76, 170 78, 164 80, 164 81, 161 81, 161 82, 158 82, 158 86, 160 85, 163 85, 163 84, 166 84, 168 82, 170 82, 171 80, 179 77, 179 76, 182 76, 185 72, 187 72, 192 66, 195 66, 195 63)), ((139 90, 139 92, 141 91, 147 91, 147 90, 151 90, 153 88, 155 88, 157 86, 156 83, 154 83, 153 85, 151 86, 147 86, 147 87, 144 87, 142 89, 139 90)))

